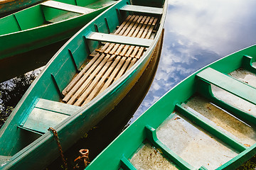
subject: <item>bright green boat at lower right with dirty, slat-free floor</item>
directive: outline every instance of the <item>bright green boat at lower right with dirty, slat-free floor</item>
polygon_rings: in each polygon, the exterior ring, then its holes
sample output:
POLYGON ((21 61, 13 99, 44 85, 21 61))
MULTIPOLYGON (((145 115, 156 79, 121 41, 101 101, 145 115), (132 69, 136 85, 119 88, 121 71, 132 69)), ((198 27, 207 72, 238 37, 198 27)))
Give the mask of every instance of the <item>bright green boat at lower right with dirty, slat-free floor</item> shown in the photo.
POLYGON ((236 169, 256 154, 256 45, 183 80, 90 169, 236 169))

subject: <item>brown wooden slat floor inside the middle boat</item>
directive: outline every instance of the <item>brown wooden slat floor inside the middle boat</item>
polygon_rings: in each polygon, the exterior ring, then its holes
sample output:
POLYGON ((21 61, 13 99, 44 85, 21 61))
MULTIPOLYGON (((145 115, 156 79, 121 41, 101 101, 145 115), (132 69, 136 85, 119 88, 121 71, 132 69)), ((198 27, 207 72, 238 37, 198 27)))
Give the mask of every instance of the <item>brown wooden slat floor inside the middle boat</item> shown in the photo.
MULTIPOLYGON (((128 16, 114 35, 150 39, 156 21, 157 18, 150 16, 128 16)), ((63 90, 63 102, 84 106, 127 72, 145 50, 145 47, 105 43, 63 90)))

